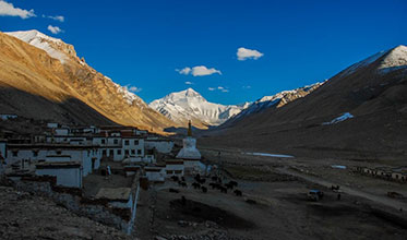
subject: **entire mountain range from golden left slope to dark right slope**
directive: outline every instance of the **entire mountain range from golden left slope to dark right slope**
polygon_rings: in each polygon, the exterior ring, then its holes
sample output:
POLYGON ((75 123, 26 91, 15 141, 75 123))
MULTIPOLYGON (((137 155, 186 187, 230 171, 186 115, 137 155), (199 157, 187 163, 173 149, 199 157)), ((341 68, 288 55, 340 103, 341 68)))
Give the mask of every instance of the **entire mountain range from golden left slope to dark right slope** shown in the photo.
POLYGON ((406 157, 407 47, 378 52, 323 83, 254 103, 224 106, 189 88, 147 105, 61 39, 37 31, 0 32, 0 112, 156 132, 192 120, 201 129, 215 127, 202 133, 202 145, 320 157, 326 152, 406 157))

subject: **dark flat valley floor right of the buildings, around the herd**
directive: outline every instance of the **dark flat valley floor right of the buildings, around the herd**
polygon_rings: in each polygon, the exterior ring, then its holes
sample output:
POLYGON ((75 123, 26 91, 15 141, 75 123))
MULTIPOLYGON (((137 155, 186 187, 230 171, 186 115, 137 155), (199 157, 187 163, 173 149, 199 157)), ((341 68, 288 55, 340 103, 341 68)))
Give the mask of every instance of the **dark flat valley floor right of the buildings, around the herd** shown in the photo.
POLYGON ((225 181, 236 180, 242 196, 207 193, 177 182, 154 184, 142 191, 135 235, 166 239, 405 239, 406 184, 360 176, 358 161, 273 158, 241 155, 239 151, 201 151, 212 164, 222 160, 225 181), (321 164, 323 163, 323 164, 321 164), (334 169, 344 165, 347 169, 334 169), (331 190, 342 187, 340 200, 331 190), (179 190, 179 193, 169 192, 179 190), (322 190, 322 201, 307 199, 310 189, 322 190), (181 196, 187 203, 181 204, 181 196), (400 211, 399 208, 403 208, 400 211))

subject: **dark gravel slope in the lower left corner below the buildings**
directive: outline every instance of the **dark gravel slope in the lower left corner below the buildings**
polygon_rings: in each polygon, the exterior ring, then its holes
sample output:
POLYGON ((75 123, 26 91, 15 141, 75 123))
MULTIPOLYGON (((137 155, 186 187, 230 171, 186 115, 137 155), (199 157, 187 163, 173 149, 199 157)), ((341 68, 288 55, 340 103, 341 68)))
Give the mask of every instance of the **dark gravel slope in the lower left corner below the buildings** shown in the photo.
POLYGON ((52 201, 0 187, 0 239, 130 239, 52 201))

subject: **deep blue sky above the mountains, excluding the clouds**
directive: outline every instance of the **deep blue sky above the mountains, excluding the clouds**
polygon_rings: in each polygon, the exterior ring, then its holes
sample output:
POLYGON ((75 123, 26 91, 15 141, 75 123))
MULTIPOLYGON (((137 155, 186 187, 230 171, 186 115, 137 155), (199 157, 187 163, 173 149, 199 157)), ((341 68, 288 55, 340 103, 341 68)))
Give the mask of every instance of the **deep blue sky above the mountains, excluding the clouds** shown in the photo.
POLYGON ((35 28, 62 38, 97 71, 141 88, 136 94, 147 103, 187 87, 215 103, 252 101, 407 45, 404 0, 5 2, 36 16, 3 14, 0 31, 35 28), (49 25, 62 32, 52 34, 49 25), (240 47, 262 56, 249 52, 256 59, 240 61, 240 47), (202 65, 207 70, 192 69, 202 65), (212 68, 213 74, 199 75, 212 68))

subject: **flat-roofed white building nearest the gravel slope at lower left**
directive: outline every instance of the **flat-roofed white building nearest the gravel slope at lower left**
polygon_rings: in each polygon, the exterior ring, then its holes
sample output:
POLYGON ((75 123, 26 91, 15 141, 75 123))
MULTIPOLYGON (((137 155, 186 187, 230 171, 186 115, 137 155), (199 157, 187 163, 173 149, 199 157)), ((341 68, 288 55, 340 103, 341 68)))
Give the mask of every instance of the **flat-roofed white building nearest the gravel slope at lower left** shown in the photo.
POLYGON ((57 177, 57 185, 82 188, 82 165, 79 161, 53 161, 36 164, 35 175, 57 177))

